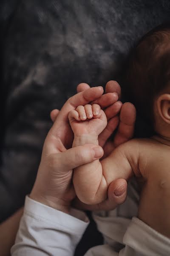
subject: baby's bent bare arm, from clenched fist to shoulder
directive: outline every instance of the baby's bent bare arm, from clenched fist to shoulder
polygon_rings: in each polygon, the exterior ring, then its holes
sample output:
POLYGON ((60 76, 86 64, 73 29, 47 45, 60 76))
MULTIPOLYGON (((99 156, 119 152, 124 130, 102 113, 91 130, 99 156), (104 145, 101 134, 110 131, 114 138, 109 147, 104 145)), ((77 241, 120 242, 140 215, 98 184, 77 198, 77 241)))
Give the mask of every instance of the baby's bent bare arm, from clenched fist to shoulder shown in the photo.
MULTIPOLYGON (((96 104, 79 106, 76 111, 69 113, 69 120, 74 131, 73 147, 87 143, 98 145, 98 135, 107 125, 105 113, 96 104)), ((85 204, 98 204, 107 198, 111 181, 130 177, 132 164, 128 158, 132 153, 130 151, 132 149, 134 151, 134 146, 131 144, 135 143, 127 142, 116 148, 101 162, 95 160, 74 170, 73 183, 80 201, 85 204)))

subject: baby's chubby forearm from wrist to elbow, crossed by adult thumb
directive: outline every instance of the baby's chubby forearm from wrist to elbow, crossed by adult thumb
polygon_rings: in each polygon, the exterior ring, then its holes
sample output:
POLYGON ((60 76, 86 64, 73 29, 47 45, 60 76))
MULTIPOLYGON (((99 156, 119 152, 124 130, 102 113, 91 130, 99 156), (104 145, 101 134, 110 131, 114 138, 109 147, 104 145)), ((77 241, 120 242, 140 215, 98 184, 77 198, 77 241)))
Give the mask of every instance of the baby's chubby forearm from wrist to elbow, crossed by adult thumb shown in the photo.
MULTIPOLYGON (((73 146, 88 143, 98 145, 98 138, 91 135, 75 136, 73 146)), ((107 198, 107 183, 99 160, 74 169, 73 183, 77 197, 85 204, 97 204, 107 198)))

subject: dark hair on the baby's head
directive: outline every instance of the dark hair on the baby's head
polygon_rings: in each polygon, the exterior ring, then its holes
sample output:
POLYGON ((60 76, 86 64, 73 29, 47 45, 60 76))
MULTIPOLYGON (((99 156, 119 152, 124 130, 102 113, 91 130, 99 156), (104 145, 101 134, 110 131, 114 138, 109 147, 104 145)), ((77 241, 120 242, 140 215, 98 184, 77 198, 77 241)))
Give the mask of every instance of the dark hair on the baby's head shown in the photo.
POLYGON ((170 23, 148 32, 133 49, 124 78, 125 93, 153 129, 153 100, 170 84, 170 23))

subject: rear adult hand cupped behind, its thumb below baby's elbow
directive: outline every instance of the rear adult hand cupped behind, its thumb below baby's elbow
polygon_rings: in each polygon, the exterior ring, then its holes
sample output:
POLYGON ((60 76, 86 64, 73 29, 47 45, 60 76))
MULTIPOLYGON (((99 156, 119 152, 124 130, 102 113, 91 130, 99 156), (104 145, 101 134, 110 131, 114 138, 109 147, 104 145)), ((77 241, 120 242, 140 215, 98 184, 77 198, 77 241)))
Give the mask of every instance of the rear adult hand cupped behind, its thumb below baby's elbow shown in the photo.
MULTIPOLYGON (((82 92, 90 88, 88 84, 81 83, 77 87, 77 92, 82 92)), ((122 105, 122 102, 113 102, 114 93, 116 93, 121 98, 121 88, 116 81, 109 81, 106 84, 106 94, 102 95, 100 98, 92 103, 97 103, 101 105, 102 109, 108 119, 108 125, 102 134, 99 135, 99 145, 104 148, 104 154, 107 156, 113 151, 116 146, 125 143, 133 137, 134 125, 136 119, 135 107, 127 102, 122 105), (113 95, 112 95, 113 94, 113 95), (111 102, 112 100, 112 102, 111 102), (108 102, 111 102, 109 105, 108 102), (119 115, 120 112, 120 115, 119 115), (113 140, 110 140, 111 134, 118 127, 113 140)), ((51 112, 51 119, 55 120, 55 115, 57 110, 51 112)), ((124 179, 118 179, 113 181, 108 189, 108 199, 101 204, 97 205, 86 205, 79 200, 74 201, 74 206, 81 209, 89 210, 110 210, 114 209, 117 204, 122 204, 125 201, 127 192, 127 182, 124 179)))

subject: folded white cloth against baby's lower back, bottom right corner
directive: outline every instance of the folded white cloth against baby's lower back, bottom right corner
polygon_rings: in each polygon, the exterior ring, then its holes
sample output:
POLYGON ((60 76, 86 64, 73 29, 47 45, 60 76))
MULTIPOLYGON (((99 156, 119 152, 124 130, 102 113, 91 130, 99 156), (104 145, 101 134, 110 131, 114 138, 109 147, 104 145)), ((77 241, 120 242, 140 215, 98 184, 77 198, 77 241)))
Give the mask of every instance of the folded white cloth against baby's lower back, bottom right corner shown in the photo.
POLYGON ((119 256, 170 256, 170 239, 133 217, 123 238, 119 256))

